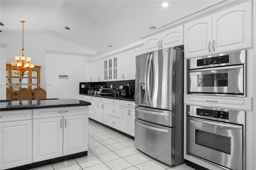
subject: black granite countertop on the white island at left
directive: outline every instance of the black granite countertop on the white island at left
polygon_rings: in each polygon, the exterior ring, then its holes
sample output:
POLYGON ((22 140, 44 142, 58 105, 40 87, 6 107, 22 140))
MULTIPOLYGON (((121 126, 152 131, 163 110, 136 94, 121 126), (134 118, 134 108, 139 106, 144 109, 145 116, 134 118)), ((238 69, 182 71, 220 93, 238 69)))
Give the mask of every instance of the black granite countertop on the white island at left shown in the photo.
POLYGON ((73 107, 91 105, 90 102, 77 99, 50 99, 50 100, 27 100, 9 101, 0 103, 0 111, 22 110, 22 109, 42 109, 53 107, 73 107))

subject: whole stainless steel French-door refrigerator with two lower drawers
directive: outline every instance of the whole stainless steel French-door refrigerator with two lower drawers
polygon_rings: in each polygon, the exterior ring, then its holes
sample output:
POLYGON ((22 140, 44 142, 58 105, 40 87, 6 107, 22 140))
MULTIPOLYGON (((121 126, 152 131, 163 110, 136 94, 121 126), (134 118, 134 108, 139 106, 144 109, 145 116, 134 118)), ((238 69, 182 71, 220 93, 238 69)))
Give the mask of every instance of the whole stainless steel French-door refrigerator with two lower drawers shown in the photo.
POLYGON ((171 166, 184 162, 183 78, 179 48, 136 56, 135 146, 171 166))

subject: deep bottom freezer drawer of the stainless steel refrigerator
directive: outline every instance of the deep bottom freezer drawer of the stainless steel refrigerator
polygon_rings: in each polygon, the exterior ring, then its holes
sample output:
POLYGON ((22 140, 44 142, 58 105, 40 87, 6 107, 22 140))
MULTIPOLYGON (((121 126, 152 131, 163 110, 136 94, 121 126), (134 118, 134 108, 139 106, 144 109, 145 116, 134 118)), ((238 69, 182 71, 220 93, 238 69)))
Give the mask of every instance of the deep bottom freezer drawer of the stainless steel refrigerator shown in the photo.
POLYGON ((174 127, 135 119, 135 146, 166 164, 174 165, 174 127))

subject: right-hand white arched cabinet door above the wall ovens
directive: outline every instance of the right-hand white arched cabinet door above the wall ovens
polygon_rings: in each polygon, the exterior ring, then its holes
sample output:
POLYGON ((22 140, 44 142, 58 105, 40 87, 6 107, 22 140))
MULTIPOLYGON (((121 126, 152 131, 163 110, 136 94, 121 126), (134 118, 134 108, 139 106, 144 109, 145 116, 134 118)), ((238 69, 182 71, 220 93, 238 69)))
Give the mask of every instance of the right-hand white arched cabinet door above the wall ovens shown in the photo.
POLYGON ((251 1, 212 15, 213 53, 251 47, 251 1))

